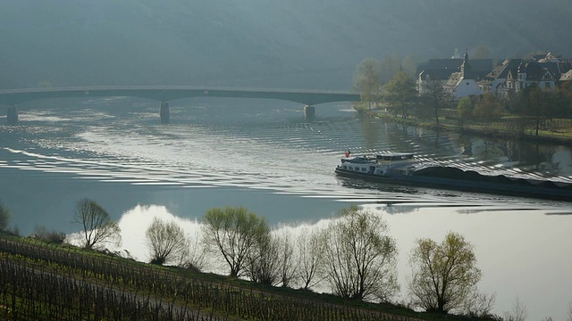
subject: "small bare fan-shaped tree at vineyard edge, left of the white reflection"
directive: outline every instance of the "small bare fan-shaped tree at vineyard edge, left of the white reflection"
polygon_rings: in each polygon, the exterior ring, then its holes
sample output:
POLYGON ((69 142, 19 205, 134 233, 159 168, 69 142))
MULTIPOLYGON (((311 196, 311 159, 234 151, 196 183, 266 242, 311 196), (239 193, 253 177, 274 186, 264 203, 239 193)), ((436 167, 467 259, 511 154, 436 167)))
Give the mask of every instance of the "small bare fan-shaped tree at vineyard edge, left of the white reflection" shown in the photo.
POLYGON ((93 249, 105 242, 121 243, 121 228, 97 202, 87 198, 76 202, 73 221, 83 227, 84 247, 93 249))

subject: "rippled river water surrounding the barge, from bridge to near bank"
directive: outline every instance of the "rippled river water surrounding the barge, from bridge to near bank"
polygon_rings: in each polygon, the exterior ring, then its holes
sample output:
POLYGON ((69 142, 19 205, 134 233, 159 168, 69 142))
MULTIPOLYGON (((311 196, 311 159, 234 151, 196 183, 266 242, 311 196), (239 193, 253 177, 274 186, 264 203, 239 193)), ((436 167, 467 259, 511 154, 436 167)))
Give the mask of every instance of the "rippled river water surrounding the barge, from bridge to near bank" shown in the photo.
MULTIPOLYGON (((19 106, 20 124, 0 126, 0 199, 21 235, 36 226, 65 233, 74 203, 88 197, 120 222, 122 248, 146 260, 153 216, 188 230, 207 209, 244 206, 274 228, 321 225, 350 203, 382 213, 400 248, 399 300, 407 300, 408 253, 416 238, 447 232, 475 245, 482 292, 502 316, 518 300, 529 320, 563 320, 572 301, 570 202, 374 185, 335 177, 346 150, 416 152, 482 173, 572 181, 566 146, 488 141, 363 118, 348 103, 316 106, 240 99, 158 103, 61 100, 19 106)), ((5 124, 4 119, 0 123, 5 124)))

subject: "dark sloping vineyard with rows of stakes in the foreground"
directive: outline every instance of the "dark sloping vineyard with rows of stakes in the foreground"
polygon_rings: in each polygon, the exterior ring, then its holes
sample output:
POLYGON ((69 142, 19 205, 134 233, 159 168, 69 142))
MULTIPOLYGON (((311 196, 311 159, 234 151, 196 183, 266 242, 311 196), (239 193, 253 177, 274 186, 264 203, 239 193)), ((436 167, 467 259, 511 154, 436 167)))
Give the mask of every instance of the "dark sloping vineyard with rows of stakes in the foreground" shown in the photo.
POLYGON ((413 321, 419 315, 277 294, 7 235, 0 235, 0 284, 0 319, 6 320, 413 321))

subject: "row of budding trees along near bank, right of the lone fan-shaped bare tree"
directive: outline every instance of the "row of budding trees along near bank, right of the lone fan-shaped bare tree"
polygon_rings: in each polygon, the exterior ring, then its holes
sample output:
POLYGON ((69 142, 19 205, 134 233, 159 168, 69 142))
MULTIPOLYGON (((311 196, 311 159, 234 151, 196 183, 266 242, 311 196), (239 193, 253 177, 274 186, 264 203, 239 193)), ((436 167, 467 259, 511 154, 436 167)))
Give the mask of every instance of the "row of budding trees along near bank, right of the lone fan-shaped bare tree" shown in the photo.
MULTIPOLYGON (((271 231, 264 218, 242 207, 214 208, 206 212, 201 241, 191 251, 218 255, 231 276, 260 284, 304 289, 325 284, 342 298, 384 302, 400 291, 398 249, 381 216, 351 206, 322 229, 307 228, 296 236, 286 231, 271 231)), ((204 262, 183 254, 186 239, 176 223, 156 218, 147 228, 151 262, 179 264, 185 256, 187 263, 204 262)), ((477 291, 482 274, 473 246, 461 235, 450 233, 442 243, 417 240, 409 263, 412 306, 473 316, 490 313, 494 296, 477 291)))

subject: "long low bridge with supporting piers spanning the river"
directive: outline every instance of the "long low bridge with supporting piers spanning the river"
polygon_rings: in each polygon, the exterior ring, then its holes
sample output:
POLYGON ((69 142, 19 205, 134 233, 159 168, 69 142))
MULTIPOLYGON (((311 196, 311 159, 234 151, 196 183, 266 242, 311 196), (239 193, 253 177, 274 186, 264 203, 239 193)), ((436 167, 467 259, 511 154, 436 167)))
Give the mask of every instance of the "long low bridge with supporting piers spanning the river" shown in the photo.
POLYGON ((140 97, 160 102, 161 122, 169 122, 169 101, 189 97, 268 98, 303 103, 307 115, 314 105, 332 102, 357 102, 357 92, 302 89, 257 89, 199 86, 85 86, 0 90, 0 103, 8 105, 8 124, 18 121, 16 105, 38 99, 68 97, 140 97))

